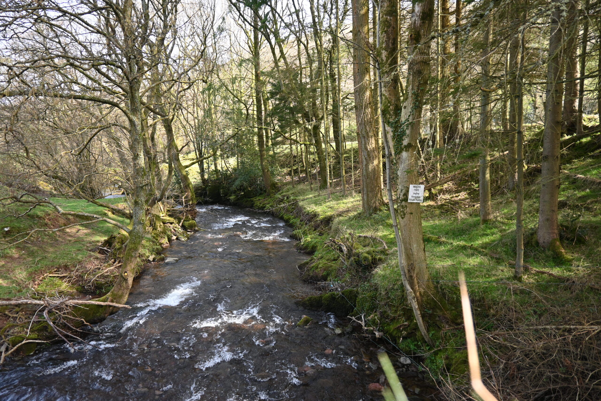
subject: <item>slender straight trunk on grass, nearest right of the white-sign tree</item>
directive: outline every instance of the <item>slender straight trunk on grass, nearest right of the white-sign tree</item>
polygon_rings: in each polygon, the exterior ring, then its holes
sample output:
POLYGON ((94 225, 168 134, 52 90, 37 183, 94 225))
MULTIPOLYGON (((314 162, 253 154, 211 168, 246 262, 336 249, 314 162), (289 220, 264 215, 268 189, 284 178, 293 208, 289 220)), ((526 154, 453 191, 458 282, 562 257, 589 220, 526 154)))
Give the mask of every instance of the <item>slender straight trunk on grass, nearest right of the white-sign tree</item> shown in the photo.
MULTIPOLYGON (((482 88, 490 85, 490 25, 484 31, 484 49, 482 49, 482 88)), ((490 92, 480 91, 480 224, 492 219, 492 205, 490 204, 490 92)))

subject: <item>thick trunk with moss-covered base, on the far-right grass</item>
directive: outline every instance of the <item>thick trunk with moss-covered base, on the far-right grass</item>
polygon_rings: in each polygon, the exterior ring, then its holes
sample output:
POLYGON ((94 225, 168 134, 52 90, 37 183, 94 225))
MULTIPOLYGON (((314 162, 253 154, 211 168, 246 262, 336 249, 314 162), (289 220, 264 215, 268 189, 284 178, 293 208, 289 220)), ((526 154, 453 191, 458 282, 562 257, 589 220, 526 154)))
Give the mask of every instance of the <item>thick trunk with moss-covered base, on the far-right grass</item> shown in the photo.
POLYGON ((561 96, 563 94, 563 11, 554 2, 547 61, 546 118, 540 178, 537 238, 540 246, 563 255, 558 231, 557 201, 560 192, 561 96))

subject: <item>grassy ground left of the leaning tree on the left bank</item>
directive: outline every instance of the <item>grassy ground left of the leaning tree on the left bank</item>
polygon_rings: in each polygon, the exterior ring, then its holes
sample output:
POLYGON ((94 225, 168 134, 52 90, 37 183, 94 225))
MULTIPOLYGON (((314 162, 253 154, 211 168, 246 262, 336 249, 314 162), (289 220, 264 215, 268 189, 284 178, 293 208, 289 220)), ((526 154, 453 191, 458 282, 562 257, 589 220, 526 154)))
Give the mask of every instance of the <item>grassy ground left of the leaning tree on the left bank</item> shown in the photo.
MULTIPOLYGON (((114 215, 107 209, 83 200, 52 198, 64 210, 77 210, 106 216, 122 224, 127 219, 114 215)), ((104 200, 120 205, 123 198, 104 200)), ((81 221, 78 218, 59 215, 52 207, 38 206, 27 215, 16 218, 28 209, 25 205, 14 205, 4 209, 0 220, 2 243, 16 234, 34 228, 58 228, 81 221)), ((118 231, 113 225, 100 221, 85 225, 75 225, 65 230, 38 232, 27 242, 0 251, 0 298, 15 298, 36 295, 70 295, 82 290, 73 280, 73 272, 85 271, 105 265, 105 258, 99 255, 98 246, 111 234, 118 231)), ((22 239, 19 236, 13 241, 22 239)))

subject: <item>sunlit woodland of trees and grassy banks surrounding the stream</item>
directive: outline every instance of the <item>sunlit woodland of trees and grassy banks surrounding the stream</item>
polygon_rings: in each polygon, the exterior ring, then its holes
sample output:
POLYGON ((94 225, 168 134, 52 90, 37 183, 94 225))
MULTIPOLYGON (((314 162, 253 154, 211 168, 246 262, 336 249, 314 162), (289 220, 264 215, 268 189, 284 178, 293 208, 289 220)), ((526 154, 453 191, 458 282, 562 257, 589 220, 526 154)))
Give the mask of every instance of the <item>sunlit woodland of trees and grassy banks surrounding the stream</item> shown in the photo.
POLYGON ((365 335, 419 355, 444 399, 472 399, 460 271, 497 399, 599 399, 600 16, 2 1, 0 364, 80 340, 222 203, 291 225, 324 292, 307 304, 352 291, 365 335))

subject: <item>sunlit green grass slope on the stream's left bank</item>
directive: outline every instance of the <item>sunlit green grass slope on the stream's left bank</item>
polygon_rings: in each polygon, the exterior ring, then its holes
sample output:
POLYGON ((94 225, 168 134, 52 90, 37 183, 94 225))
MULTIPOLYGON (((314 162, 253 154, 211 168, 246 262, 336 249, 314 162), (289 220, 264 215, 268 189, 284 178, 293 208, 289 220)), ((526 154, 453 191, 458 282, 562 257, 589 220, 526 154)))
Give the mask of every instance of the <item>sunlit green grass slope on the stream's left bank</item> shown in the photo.
MULTIPOLYGON (((127 219, 115 216, 103 207, 86 201, 58 198, 52 200, 64 210, 94 213, 127 224, 127 219)), ((123 203, 123 198, 107 199, 106 201, 120 204, 123 203)), ((16 206, 10 213, 19 214, 25 212, 26 209, 24 206, 16 206)), ((2 212, 5 215, 7 210, 3 208, 2 212)), ((7 216, 0 220, 0 236, 1 239, 6 240, 17 233, 33 228, 57 228, 77 221, 79 220, 76 218, 64 218, 58 215, 50 207, 39 206, 21 218, 7 216), (5 227, 10 227, 10 230, 5 231, 5 227)), ((113 225, 96 222, 67 228, 65 231, 56 233, 42 233, 31 238, 29 243, 22 242, 3 251, 0 253, 0 298, 25 295, 35 278, 40 275, 55 269, 75 266, 95 256, 96 253, 90 252, 90 249, 100 245, 115 231, 117 228, 113 225)), ((18 237, 18 239, 21 238, 18 237)), ((50 283, 50 281, 58 280, 46 279, 46 281, 49 281, 44 283, 46 287, 59 284, 50 283)))

